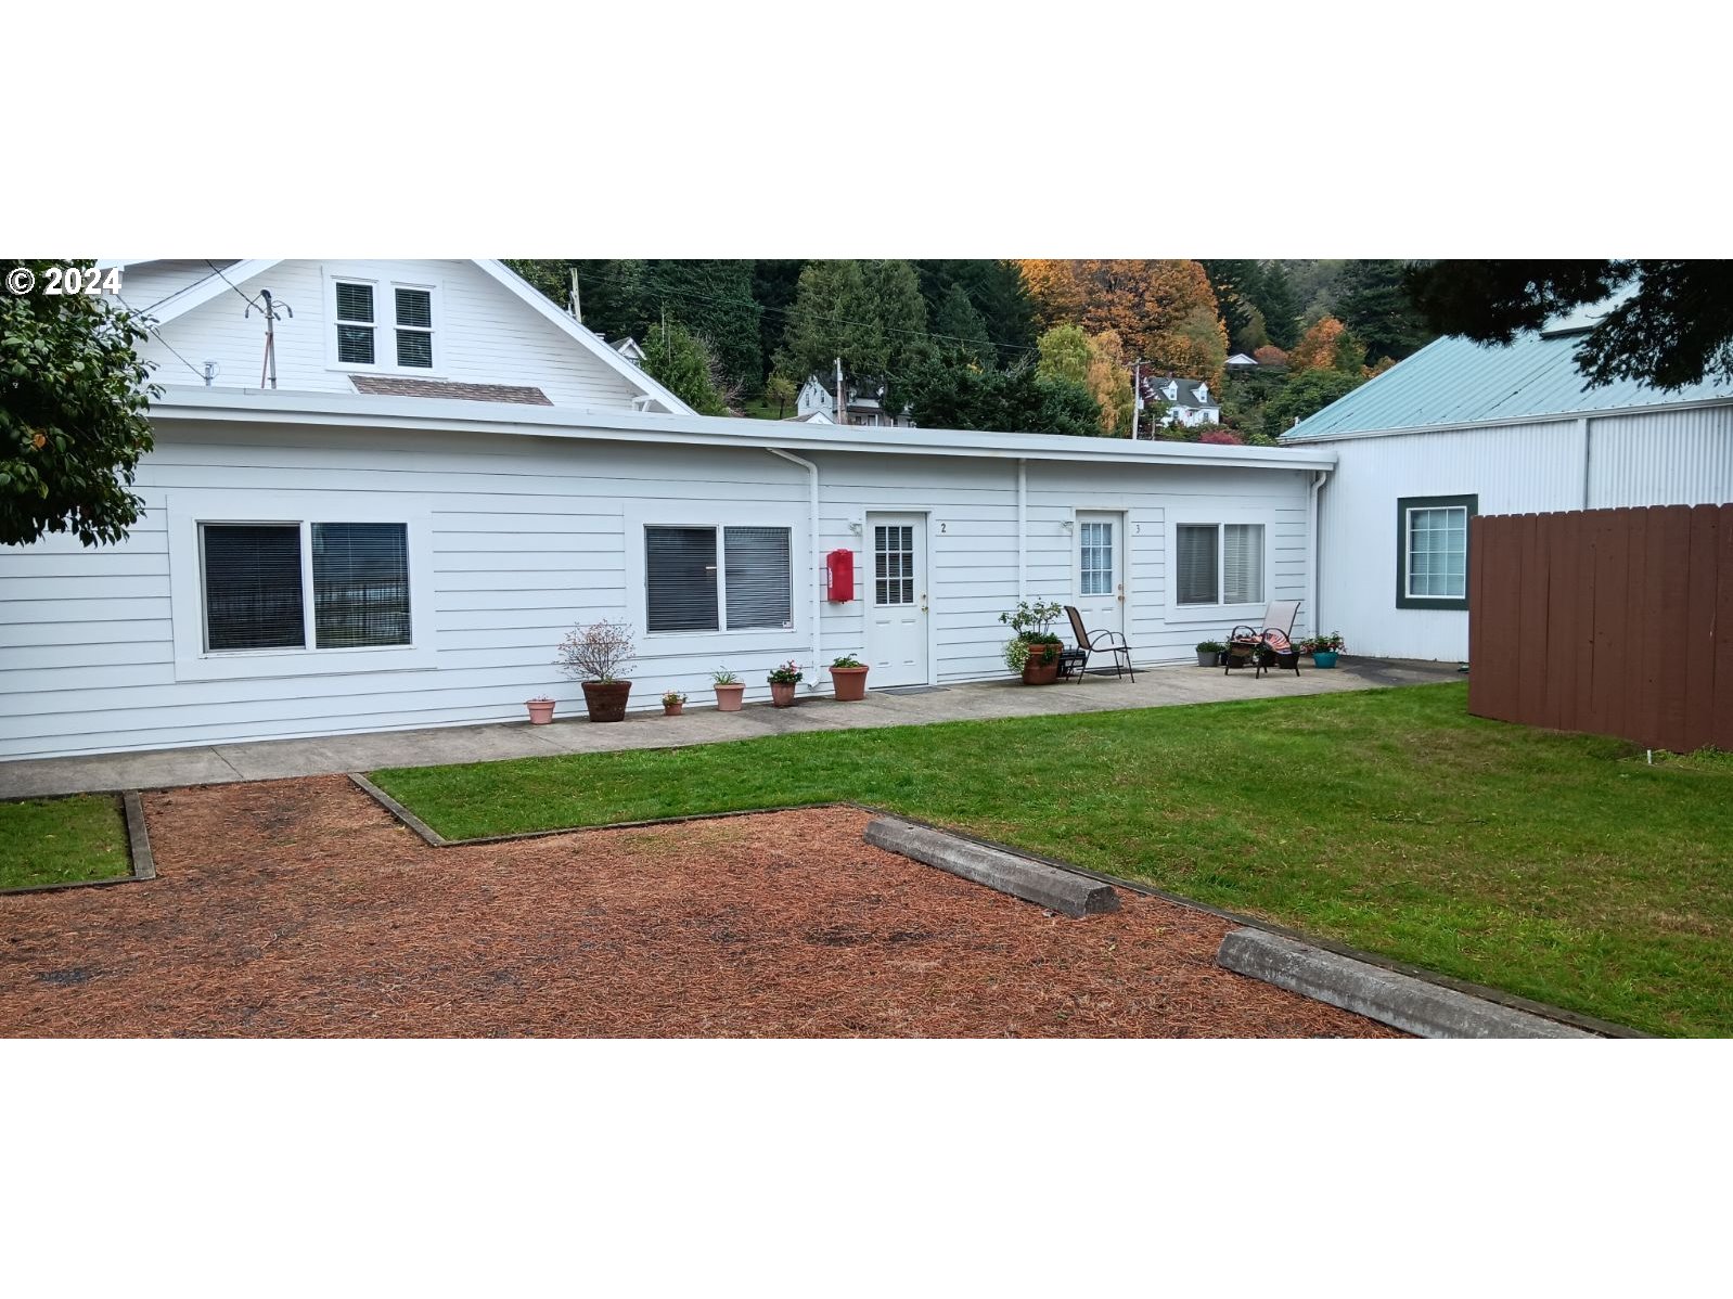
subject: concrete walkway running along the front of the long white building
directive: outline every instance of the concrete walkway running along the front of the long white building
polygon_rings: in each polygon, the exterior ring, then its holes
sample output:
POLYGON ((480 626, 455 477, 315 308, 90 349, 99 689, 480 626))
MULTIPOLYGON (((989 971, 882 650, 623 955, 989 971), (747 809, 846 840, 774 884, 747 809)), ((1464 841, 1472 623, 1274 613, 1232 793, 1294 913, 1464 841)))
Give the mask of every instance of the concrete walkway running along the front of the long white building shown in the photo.
MULTIPOLYGON (((426 767, 454 762, 598 753, 620 748, 672 748, 726 740, 754 740, 790 731, 849 731, 865 726, 924 726, 927 722, 1042 714, 1159 708, 1217 700, 1288 698, 1341 689, 1418 686, 1461 681, 1454 663, 1341 660, 1333 670, 1301 669, 1253 677, 1249 670, 1168 665, 1139 669, 1137 682, 1088 675, 1081 682, 1028 688, 1016 681, 941 686, 925 693, 868 691, 860 703, 837 703, 802 693, 799 707, 773 708, 749 703, 737 714, 697 708, 683 717, 633 714, 613 726, 593 726, 582 700, 565 700, 565 721, 551 726, 490 722, 426 731, 369 731, 317 740, 263 740, 244 745, 201 745, 97 757, 26 759, 0 762, 0 798, 26 798, 97 790, 154 790, 182 785, 328 776, 376 767, 426 767), (575 710, 575 719, 572 717, 575 710)), ((828 686, 828 682, 827 682, 828 686)))

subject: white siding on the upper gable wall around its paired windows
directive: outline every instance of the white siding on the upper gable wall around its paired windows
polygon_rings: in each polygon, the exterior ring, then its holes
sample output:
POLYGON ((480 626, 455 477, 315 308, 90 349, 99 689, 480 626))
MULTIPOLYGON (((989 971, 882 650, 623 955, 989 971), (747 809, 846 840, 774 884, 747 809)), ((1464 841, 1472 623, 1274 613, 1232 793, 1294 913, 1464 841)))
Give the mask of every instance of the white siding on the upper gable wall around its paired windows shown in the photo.
MULTIPOLYGON (((172 275, 154 267, 147 270, 151 291, 146 296, 151 296, 172 275)), ((270 289, 279 303, 295 312, 293 317, 284 313, 276 329, 281 390, 354 391, 352 371, 333 364, 329 333, 334 326, 329 320, 328 272, 362 275, 383 284, 438 284, 433 326, 438 365, 421 378, 541 388, 555 405, 631 409, 636 390, 620 374, 471 262, 281 262, 243 284, 248 296, 270 289)), ((146 272, 139 272, 135 279, 146 279, 146 272)), ((144 307, 132 291, 132 281, 125 281, 125 294, 133 307, 144 307)), ((378 308, 383 319, 378 343, 385 355, 392 338, 388 296, 381 296, 378 308)), ((256 388, 265 357, 265 326, 258 312, 246 315, 243 294, 224 289, 217 298, 165 324, 161 339, 153 336, 139 352, 156 362, 161 383, 201 383, 203 364, 215 360, 220 367, 218 386, 256 388)), ((402 371, 380 372, 416 378, 402 371)))

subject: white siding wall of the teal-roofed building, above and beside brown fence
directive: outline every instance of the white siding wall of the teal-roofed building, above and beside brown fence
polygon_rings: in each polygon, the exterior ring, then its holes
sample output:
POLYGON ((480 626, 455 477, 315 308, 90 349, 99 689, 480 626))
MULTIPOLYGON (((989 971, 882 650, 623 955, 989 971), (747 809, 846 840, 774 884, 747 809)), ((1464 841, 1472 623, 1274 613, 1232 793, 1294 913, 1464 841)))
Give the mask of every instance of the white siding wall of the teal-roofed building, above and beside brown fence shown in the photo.
POLYGON ((1482 514, 1733 501, 1733 405, 1322 443, 1319 617, 1353 653, 1466 660, 1468 613, 1399 610, 1397 501, 1477 494, 1482 514))

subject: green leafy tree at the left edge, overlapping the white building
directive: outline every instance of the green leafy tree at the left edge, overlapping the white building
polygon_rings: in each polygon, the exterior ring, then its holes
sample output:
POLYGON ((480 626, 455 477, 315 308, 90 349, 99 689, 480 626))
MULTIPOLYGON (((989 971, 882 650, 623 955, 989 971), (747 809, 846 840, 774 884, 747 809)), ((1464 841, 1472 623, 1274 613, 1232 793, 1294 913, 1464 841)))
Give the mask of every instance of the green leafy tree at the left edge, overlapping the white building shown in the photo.
MULTIPOLYGON (((50 265, 0 262, 40 286, 50 265)), ((0 544, 69 532, 118 542, 139 521, 133 469, 151 449, 144 317, 85 294, 0 293, 0 544)))

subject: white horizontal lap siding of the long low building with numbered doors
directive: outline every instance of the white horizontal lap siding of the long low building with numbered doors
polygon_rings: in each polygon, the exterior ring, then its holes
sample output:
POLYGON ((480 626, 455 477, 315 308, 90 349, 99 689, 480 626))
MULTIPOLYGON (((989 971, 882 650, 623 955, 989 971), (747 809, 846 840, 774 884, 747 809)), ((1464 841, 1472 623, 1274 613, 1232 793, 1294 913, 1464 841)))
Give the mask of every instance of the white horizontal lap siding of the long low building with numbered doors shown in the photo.
MULTIPOLYGON (((929 511, 932 679, 1002 675, 998 615, 1017 599, 1016 464, 841 452, 820 461, 820 551, 856 551, 863 582, 851 523, 873 509, 929 511)), ((768 695, 764 672, 790 656, 828 686, 811 663, 820 575, 808 475, 763 450, 177 426, 159 430, 139 488, 149 513, 118 547, 50 540, 0 551, 0 757, 516 719, 539 693, 570 714, 581 693, 553 669, 555 644, 574 622, 600 617, 636 624, 638 707, 653 707, 665 689, 709 701, 709 674, 721 663, 742 675, 749 698, 768 695), (397 497, 406 518, 425 516, 411 527, 432 533, 433 667, 338 670, 333 662, 317 675, 191 679, 177 663, 170 563, 196 572, 175 537, 204 516, 201 501, 251 495, 269 499, 269 514, 293 518, 296 497, 341 494, 397 497), (646 636, 643 523, 735 518, 790 528, 794 629, 646 636)), ((1198 639, 1227 630, 1206 611, 1172 620, 1165 603, 1165 525, 1201 502, 1267 511, 1270 596, 1303 594, 1301 473, 1031 462, 1029 598, 1073 598, 1074 539, 1061 525, 1074 511, 1123 509, 1137 658, 1189 656, 1198 639)), ((823 662, 860 651, 860 599, 821 608, 823 662)))

